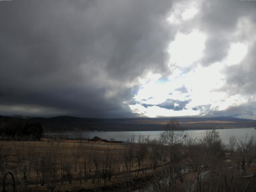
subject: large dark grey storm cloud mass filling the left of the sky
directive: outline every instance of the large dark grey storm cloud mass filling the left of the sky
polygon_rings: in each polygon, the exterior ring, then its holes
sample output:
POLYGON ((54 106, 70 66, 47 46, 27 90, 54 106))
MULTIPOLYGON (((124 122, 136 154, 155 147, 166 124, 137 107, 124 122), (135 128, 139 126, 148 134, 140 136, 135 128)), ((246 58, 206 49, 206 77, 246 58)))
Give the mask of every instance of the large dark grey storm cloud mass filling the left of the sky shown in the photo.
POLYGON ((123 101, 168 72, 170 1, 0 2, 0 114, 133 116, 123 101))

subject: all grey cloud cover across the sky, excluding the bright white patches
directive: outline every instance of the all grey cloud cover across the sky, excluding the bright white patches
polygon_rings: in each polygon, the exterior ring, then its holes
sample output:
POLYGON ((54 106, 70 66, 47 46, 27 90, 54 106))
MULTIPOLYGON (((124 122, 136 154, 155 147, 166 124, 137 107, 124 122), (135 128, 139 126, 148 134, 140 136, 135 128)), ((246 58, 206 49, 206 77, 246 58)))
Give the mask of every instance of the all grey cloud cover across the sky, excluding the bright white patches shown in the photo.
MULTIPOLYGON (((246 57, 225 67, 226 84, 216 91, 248 100, 221 112, 210 110, 211 104, 193 110, 256 118, 256 2, 202 1, 191 20, 166 22, 175 4, 186 7, 189 2, 0 2, 0 114, 136 116, 128 105, 137 103, 133 97, 140 89, 140 78, 148 72, 166 78, 172 68, 167 65, 168 44, 179 32, 189 34, 195 29, 205 34, 205 49, 202 58, 182 73, 194 70, 198 62, 204 67, 223 62, 232 43, 247 43, 246 57)), ((185 82, 176 91, 189 95, 191 90, 185 82)), ((183 110, 186 104, 166 100, 156 106, 183 110)))

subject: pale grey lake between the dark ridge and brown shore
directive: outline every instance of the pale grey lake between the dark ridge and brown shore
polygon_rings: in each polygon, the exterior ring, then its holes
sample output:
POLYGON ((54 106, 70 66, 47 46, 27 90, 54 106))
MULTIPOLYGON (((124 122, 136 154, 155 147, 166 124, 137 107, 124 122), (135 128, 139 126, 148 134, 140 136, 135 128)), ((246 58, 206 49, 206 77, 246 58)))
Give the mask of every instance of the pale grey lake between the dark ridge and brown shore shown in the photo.
MULTIPOLYGON (((236 136, 237 138, 244 138, 246 134, 250 138, 254 136, 256 138, 256 129, 254 128, 234 128, 234 129, 216 129, 220 133, 220 138, 224 144, 228 144, 230 136, 236 136)), ((186 130, 185 133, 187 136, 192 138, 202 138, 207 130, 186 130)), ((160 137, 162 131, 109 131, 109 132, 82 132, 82 136, 86 137, 89 134, 90 138, 98 136, 102 139, 110 140, 114 138, 116 141, 126 142, 127 138, 131 138, 134 134, 137 138, 139 135, 149 136, 151 139, 157 139, 160 137)), ((68 138, 76 138, 77 132, 46 132, 45 136, 58 136, 62 135, 68 138)))

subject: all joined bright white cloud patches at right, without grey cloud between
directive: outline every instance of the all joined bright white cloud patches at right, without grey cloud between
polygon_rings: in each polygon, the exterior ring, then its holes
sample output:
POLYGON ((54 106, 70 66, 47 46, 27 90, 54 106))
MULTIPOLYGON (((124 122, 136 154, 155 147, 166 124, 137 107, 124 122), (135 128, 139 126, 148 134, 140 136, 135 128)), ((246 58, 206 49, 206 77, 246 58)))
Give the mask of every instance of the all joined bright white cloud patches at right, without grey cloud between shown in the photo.
POLYGON ((189 1, 186 5, 176 3, 172 7, 167 20, 170 26, 178 28, 167 48, 172 74, 161 83, 159 74, 152 76, 151 81, 144 80, 134 96, 137 104, 130 105, 132 112, 149 117, 207 115, 246 105, 250 100, 246 94, 230 95, 224 87, 228 83, 227 70, 232 65, 242 64, 254 46, 256 38, 251 34, 255 33, 256 26, 248 17, 240 17, 236 29, 229 34, 233 42, 228 40, 230 47, 224 59, 204 66, 200 62, 205 54, 206 37, 211 36, 196 25, 190 33, 183 32, 188 20, 194 22, 193 18, 200 13, 200 4, 189 1), (181 88, 186 91, 180 91, 181 88), (164 108, 169 101, 171 105, 164 108), (182 109, 180 103, 185 103, 185 108, 182 109), (174 110, 176 108, 179 110, 174 110))

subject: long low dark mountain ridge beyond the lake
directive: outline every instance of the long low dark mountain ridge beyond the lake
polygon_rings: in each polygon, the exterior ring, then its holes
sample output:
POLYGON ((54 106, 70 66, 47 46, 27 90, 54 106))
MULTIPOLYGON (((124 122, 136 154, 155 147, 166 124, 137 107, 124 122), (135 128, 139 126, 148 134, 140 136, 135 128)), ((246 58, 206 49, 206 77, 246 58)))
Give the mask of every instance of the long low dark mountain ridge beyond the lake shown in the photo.
MULTIPOLYGON (((0 116, 3 118, 12 118, 0 116)), ((32 121, 40 122, 44 131, 153 131, 164 130, 164 125, 171 118, 80 118, 73 116, 56 116, 51 118, 34 117, 32 121)), ((222 129, 255 127, 256 120, 234 117, 177 117, 183 129, 222 129)))

